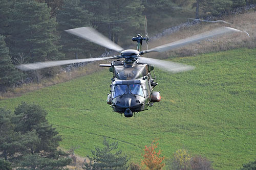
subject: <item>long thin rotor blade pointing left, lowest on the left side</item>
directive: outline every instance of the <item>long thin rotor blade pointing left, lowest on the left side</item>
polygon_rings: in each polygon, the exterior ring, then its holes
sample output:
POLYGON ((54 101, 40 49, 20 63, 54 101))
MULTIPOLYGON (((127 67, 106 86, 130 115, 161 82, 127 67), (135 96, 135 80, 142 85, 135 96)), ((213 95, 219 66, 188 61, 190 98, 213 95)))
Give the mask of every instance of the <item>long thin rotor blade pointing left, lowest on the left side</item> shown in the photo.
POLYGON ((35 69, 41 69, 41 68, 47 68, 47 67, 53 67, 53 66, 59 66, 59 65, 74 64, 74 63, 89 62, 89 61, 99 61, 99 60, 113 59, 113 58, 118 58, 118 57, 112 56, 112 57, 85 58, 85 59, 75 59, 75 60, 46 61, 46 62, 21 64, 21 65, 17 65, 16 68, 23 71, 29 71, 29 70, 35 70, 35 69))

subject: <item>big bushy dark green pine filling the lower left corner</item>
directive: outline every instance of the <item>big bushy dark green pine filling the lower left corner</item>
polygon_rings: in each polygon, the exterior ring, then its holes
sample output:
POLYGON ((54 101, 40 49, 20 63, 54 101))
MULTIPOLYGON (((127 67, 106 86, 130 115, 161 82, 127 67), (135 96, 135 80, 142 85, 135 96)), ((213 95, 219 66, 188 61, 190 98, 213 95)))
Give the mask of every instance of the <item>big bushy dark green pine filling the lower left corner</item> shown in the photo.
MULTIPOLYGON (((57 150, 61 140, 37 105, 20 104, 14 111, 0 108, 0 159, 19 169, 63 169, 71 159, 57 150)), ((1 162, 0 162, 1 163, 1 162)))

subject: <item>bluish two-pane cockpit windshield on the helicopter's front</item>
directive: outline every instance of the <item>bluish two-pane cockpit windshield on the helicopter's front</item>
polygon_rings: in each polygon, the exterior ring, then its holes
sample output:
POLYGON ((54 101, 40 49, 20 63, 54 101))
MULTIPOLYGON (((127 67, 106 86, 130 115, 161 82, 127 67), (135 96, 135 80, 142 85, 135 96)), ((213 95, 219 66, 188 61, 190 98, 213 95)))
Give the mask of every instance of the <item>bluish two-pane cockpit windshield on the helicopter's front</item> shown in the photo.
POLYGON ((129 84, 129 85, 122 84, 122 85, 116 85, 113 93, 113 99, 119 95, 127 94, 128 91, 129 91, 129 94, 137 94, 137 95, 144 96, 144 93, 140 84, 129 84))

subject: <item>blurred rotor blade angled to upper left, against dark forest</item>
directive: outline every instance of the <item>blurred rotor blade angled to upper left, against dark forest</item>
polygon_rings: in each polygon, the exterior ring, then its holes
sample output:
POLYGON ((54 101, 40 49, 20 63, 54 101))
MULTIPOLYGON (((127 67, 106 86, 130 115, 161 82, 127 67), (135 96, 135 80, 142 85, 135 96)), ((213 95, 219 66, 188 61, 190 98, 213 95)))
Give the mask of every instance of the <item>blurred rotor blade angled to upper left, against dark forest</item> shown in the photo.
POLYGON ((94 30, 92 27, 81 27, 65 31, 78 37, 92 41, 106 48, 109 48, 110 50, 114 50, 119 53, 123 51, 123 48, 121 46, 112 42, 110 39, 106 38, 104 35, 94 30))

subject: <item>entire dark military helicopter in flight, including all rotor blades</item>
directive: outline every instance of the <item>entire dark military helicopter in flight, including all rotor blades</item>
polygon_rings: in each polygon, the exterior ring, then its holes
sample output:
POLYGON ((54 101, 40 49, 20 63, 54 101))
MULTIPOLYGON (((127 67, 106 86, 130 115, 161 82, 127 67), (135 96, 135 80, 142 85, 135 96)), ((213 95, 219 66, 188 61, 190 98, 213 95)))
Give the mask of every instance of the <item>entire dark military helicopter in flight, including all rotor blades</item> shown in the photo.
POLYGON ((124 50, 124 48, 112 42, 91 27, 75 28, 66 30, 66 32, 109 48, 110 50, 120 53, 120 55, 101 58, 37 62, 17 65, 16 67, 27 71, 79 62, 117 59, 112 61, 111 64, 100 64, 102 67, 110 67, 110 72, 113 73, 110 85, 111 93, 108 94, 107 104, 109 104, 115 112, 121 115, 124 114, 125 117, 132 117, 138 112, 147 110, 147 107, 153 106, 155 102, 161 101, 160 91, 153 91, 153 88, 158 84, 154 66, 172 73, 188 71, 195 68, 194 66, 176 62, 142 57, 143 54, 151 52, 161 53, 203 39, 242 31, 230 27, 220 27, 143 51, 141 51, 141 45, 143 41, 148 43, 147 33, 145 33, 145 37, 138 34, 136 37, 132 38, 133 41, 137 42, 136 50, 124 50), (121 61, 119 59, 124 60, 121 61))

